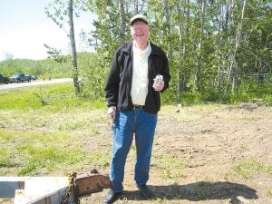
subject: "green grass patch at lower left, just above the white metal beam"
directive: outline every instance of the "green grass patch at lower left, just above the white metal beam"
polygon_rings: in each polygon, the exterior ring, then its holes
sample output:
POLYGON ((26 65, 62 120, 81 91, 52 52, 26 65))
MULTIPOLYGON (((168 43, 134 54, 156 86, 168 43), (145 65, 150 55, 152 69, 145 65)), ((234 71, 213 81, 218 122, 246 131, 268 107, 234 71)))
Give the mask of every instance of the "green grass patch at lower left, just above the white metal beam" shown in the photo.
POLYGON ((86 163, 102 168, 109 166, 108 154, 100 151, 87 154, 67 134, 0 130, 0 139, 1 146, 6 147, 0 149, 0 167, 13 163, 16 167, 13 173, 19 176, 46 174, 86 163))

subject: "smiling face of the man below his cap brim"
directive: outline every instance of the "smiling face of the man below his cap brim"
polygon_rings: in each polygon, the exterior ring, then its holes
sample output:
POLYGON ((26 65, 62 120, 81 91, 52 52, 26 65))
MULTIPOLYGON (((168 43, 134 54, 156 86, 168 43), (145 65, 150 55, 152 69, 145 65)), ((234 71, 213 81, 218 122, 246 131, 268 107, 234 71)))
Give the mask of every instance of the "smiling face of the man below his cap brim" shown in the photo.
POLYGON ((150 34, 150 27, 142 21, 136 21, 131 25, 131 36, 138 43, 147 43, 150 34))

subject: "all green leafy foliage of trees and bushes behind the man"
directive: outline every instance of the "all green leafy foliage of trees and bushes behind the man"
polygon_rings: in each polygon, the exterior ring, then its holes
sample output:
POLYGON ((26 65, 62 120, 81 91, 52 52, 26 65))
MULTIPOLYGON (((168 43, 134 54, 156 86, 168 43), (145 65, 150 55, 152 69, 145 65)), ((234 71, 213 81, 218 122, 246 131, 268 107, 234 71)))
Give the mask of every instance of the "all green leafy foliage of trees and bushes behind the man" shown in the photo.
MULTIPOLYGON (((34 99, 29 100, 33 109, 44 107, 53 111, 56 106, 52 104, 57 102, 60 102, 58 107, 63 105, 66 108, 83 105, 87 101, 97 102, 95 106, 98 107, 104 105, 103 89, 107 73, 113 53, 121 45, 120 7, 118 2, 108 0, 74 3, 75 15, 84 10, 96 16, 94 29, 89 33, 84 32, 85 40, 96 53, 78 53, 81 100, 73 94, 64 93, 62 99, 65 98, 66 101, 62 103, 44 90, 38 90, 34 93, 34 99)), ((136 12, 136 7, 141 7, 138 13, 145 13, 150 20, 151 42, 158 44, 169 57, 172 77, 169 90, 161 94, 162 103, 175 104, 178 101, 177 89, 180 84, 180 101, 185 105, 200 102, 238 104, 253 98, 263 99, 263 104, 271 105, 272 10, 269 1, 247 1, 244 19, 241 19, 243 1, 235 1, 234 5, 226 5, 224 1, 209 1, 205 10, 202 10, 200 3, 159 0, 124 2, 125 41, 131 41, 131 15, 136 12), (233 7, 230 9, 229 6, 233 7), (227 9, 228 15, 225 15, 223 11, 227 9), (240 41, 236 44, 241 23, 240 41), (237 84, 233 83, 235 79, 237 84)), ((46 8, 46 14, 60 27, 64 26, 66 20, 66 7, 62 5, 66 3, 58 0, 46 8)), ((71 56, 63 56, 61 51, 48 45, 47 49, 53 52, 51 54, 56 53, 56 57, 61 55, 65 60, 57 63, 53 59, 7 59, 0 62, 0 73, 7 76, 28 73, 37 75, 39 79, 48 79, 49 75, 52 78, 73 76, 71 56)), ((30 98, 27 95, 22 97, 30 98)), ((5 100, 18 102, 17 109, 26 105, 26 100, 21 104, 18 99, 5 100)), ((0 107, 13 106, 2 104, 0 107)))

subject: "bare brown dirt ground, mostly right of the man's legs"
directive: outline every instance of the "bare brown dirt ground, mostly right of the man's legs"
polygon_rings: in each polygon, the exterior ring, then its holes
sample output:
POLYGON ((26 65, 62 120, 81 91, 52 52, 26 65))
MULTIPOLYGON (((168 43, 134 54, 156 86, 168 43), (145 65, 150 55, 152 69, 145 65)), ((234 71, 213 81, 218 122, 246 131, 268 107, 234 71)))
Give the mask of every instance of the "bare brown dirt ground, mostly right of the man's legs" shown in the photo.
MULTIPOLYGON (((97 124, 102 137, 109 137, 107 143, 103 139, 97 144, 108 151, 112 150, 110 125, 110 121, 97 124)), ((246 103, 239 107, 163 107, 148 182, 154 197, 141 199, 135 187, 132 146, 125 167, 124 194, 115 203, 271 204, 271 127, 271 107, 246 103), (246 179, 235 165, 248 160, 265 165, 270 173, 256 170, 246 179)), ((91 148, 95 142, 86 143, 90 147, 85 148, 91 148)), ((107 191, 83 198, 81 203, 102 203, 107 191)))

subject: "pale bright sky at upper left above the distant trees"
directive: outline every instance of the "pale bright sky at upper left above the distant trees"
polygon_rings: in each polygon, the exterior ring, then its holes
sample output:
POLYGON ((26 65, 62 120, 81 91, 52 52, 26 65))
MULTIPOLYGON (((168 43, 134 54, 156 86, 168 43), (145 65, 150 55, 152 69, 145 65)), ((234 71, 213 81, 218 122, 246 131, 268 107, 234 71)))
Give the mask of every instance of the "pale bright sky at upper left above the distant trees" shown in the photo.
MULTIPOLYGON (((0 1, 0 61, 12 55, 14 59, 41 60, 48 57, 44 44, 69 53, 65 31, 44 12, 53 0, 0 1)), ((74 18, 77 51, 88 51, 79 41, 82 30, 90 31, 93 16, 88 13, 74 18)))

